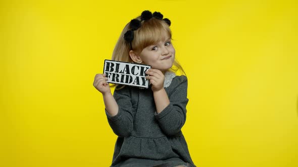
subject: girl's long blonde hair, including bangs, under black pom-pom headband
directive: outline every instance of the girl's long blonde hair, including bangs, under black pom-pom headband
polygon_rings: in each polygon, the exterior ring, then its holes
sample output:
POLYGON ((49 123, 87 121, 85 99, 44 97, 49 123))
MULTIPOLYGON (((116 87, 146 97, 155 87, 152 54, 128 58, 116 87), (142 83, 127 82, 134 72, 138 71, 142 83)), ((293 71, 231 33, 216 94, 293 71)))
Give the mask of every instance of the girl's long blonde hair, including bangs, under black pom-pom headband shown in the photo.
MULTIPOLYGON (((140 20, 140 16, 135 19, 140 20)), ((129 30, 129 23, 124 27, 116 43, 112 60, 133 62, 129 56, 130 47, 132 47, 133 51, 140 53, 147 46, 156 44, 161 40, 166 40, 166 38, 172 39, 172 32, 169 25, 163 20, 152 18, 147 21, 141 21, 140 28, 134 31, 134 38, 130 46, 129 42, 124 40, 124 34, 129 30)), ((171 71, 176 72, 178 70, 181 70, 181 73, 186 75, 182 66, 175 58, 171 71)))

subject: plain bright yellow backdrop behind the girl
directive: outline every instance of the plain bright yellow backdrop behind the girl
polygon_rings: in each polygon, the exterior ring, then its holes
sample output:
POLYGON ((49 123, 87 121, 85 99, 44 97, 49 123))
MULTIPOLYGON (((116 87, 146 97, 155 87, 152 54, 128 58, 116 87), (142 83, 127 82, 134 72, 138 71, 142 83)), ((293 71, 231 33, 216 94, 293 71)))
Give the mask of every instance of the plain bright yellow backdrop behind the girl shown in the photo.
POLYGON ((0 1, 0 166, 108 166, 93 86, 124 25, 172 21, 197 166, 298 166, 296 1, 0 1))

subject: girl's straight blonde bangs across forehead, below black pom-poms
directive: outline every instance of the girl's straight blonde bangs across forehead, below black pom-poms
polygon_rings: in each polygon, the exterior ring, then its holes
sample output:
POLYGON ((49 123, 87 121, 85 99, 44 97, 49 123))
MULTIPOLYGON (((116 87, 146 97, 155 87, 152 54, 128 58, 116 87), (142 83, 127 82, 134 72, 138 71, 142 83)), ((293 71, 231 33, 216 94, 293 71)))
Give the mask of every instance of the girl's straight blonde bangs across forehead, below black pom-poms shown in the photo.
POLYGON ((135 31, 132 48, 141 51, 145 47, 166 41, 172 38, 169 25, 159 19, 150 19, 135 31))

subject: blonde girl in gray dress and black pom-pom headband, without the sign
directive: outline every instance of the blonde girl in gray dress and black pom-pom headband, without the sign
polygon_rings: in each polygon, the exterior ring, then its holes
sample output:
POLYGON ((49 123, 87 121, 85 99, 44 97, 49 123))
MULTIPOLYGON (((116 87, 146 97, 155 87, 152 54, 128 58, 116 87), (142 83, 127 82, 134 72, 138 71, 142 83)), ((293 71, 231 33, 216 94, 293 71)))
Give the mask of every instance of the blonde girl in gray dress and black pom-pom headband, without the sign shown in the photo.
MULTIPOLYGON (((111 166, 195 166, 181 128, 186 120, 187 78, 170 71, 175 61, 169 19, 142 12, 122 31, 112 59, 151 65, 150 88, 116 86, 105 74, 93 86, 102 93, 108 122, 118 135, 111 166)), ((183 71, 183 69, 182 69, 183 71)))

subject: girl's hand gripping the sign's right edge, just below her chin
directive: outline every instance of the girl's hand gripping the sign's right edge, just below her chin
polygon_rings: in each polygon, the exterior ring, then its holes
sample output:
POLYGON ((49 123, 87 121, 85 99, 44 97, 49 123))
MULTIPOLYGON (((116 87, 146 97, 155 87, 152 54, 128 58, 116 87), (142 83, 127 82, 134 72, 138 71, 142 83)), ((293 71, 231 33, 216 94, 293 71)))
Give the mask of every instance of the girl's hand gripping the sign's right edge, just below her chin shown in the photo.
POLYGON ((145 71, 145 74, 148 74, 146 79, 149 79, 150 83, 152 84, 151 89, 153 92, 157 92, 164 88, 165 75, 162 71, 159 69, 150 68, 145 71))

